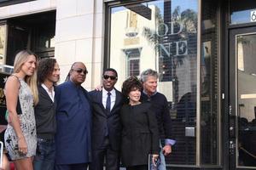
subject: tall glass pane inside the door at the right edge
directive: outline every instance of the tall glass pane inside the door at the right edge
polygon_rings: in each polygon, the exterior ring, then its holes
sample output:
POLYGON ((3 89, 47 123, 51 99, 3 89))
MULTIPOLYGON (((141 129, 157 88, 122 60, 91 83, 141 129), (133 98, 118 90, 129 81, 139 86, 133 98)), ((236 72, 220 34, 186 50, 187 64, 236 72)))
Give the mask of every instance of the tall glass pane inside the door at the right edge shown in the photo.
POLYGON ((238 165, 256 167, 256 34, 236 37, 238 165))

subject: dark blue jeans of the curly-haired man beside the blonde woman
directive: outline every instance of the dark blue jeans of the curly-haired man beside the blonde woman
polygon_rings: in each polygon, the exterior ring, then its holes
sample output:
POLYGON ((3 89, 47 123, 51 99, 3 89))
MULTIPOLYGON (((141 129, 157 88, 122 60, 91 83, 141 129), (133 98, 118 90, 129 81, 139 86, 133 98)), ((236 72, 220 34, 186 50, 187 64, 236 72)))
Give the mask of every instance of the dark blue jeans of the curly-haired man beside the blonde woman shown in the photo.
POLYGON ((38 139, 37 154, 33 161, 34 170, 54 170, 55 140, 38 139))

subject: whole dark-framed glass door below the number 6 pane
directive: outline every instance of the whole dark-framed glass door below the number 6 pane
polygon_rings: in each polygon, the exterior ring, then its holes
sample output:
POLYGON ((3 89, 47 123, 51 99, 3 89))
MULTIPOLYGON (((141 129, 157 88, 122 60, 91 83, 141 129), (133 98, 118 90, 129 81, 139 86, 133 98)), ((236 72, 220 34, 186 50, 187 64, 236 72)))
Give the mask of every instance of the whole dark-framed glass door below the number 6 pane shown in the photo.
POLYGON ((256 26, 230 30, 230 170, 256 169, 256 26))

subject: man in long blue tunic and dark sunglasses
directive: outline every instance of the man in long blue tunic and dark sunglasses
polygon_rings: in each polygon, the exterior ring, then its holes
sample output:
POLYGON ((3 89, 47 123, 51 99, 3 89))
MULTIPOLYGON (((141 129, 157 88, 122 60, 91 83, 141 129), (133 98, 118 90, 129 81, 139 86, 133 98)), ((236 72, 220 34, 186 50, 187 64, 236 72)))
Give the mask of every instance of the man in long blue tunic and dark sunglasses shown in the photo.
POLYGON ((56 87, 55 170, 84 170, 90 162, 90 101, 81 86, 87 73, 82 62, 75 62, 67 81, 56 87))

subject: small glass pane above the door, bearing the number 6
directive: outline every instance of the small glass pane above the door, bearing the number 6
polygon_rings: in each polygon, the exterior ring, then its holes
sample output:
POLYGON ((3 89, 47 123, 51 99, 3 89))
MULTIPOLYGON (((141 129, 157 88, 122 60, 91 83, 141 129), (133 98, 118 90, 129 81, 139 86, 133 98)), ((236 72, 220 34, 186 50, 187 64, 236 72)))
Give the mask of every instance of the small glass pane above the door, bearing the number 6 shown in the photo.
POLYGON ((233 0, 232 3, 230 3, 230 24, 235 25, 256 21, 256 12, 254 16, 251 16, 255 8, 255 1, 233 0))

